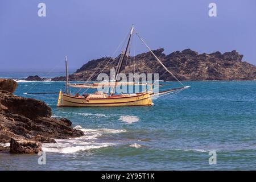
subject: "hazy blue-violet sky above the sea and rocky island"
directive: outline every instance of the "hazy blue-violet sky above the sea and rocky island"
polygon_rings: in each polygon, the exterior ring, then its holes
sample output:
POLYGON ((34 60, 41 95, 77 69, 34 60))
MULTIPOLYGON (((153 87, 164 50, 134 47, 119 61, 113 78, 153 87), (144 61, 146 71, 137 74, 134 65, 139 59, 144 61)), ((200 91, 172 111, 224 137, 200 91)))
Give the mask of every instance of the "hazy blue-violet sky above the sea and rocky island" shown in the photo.
MULTIPOLYGON (((256 65, 255 0, 0 0, 0 71, 77 69, 112 56, 131 24, 152 49, 236 49, 256 65), (46 17, 38 4, 46 3, 46 17), (208 15, 209 3, 217 17, 208 15)), ((133 53, 146 52, 139 40, 133 53)))

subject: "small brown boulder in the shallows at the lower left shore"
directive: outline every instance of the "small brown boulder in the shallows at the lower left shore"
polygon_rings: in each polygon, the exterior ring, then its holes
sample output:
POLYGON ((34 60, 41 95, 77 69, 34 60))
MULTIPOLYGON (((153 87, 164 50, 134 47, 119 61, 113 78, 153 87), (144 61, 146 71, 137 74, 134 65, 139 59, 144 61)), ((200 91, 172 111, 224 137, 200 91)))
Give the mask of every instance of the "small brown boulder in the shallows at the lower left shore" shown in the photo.
POLYGON ((38 142, 24 139, 11 138, 11 154, 37 154, 42 150, 42 145, 38 142))

